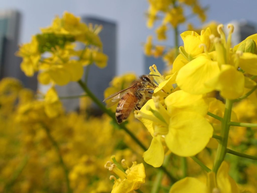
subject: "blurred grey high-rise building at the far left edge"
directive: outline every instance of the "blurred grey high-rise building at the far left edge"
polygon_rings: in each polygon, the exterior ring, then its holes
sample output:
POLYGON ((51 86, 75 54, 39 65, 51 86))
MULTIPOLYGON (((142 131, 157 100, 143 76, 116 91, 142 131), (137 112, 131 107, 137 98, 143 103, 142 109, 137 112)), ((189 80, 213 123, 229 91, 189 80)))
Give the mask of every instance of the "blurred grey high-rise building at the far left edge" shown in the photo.
POLYGON ((14 77, 22 81, 25 87, 37 88, 37 79, 26 77, 20 69, 22 59, 14 54, 18 50, 21 14, 9 10, 0 12, 0 79, 14 77))

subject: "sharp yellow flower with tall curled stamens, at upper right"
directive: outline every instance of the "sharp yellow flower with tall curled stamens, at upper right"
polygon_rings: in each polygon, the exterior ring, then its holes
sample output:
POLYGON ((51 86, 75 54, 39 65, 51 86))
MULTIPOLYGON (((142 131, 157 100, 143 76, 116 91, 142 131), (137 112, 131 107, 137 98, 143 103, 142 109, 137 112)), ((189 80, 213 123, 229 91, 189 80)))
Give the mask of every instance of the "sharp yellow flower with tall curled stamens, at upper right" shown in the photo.
MULTIPOLYGON (((227 99, 235 99, 241 96, 244 92, 245 85, 248 87, 251 81, 244 77, 242 72, 237 70, 238 66, 244 66, 248 71, 252 71, 254 74, 255 58, 256 55, 252 53, 234 53, 231 51, 231 36, 233 33, 233 26, 228 25, 230 33, 226 40, 225 34, 222 31, 223 25, 218 26, 218 32, 221 38, 214 40, 215 51, 208 53, 210 49, 210 41, 208 38, 203 38, 205 44, 200 46, 204 49, 205 54, 200 54, 201 50, 194 51, 195 59, 191 60, 185 66, 181 67, 177 75, 178 86, 191 94, 204 94, 213 90, 218 90, 221 96, 227 99), (207 41, 208 40, 208 41, 207 41), (209 45, 209 46, 208 46, 209 45), (245 57, 244 57, 245 56, 245 57), (245 79, 248 83, 245 84, 245 79)), ((188 32, 184 32, 188 34, 188 32)), ((208 33, 209 34, 209 33, 208 33)), ((186 35, 193 40, 193 36, 186 35)), ((199 36, 196 36, 197 38, 199 36)), ((204 42, 204 41, 203 41, 204 42)), ((185 50, 194 50, 196 45, 190 47, 190 41, 188 42, 188 48, 185 46, 185 50)), ((190 55, 190 53, 187 52, 190 55)), ((190 57, 188 57, 190 60, 190 57)), ((257 60, 256 60, 257 61, 257 60)))

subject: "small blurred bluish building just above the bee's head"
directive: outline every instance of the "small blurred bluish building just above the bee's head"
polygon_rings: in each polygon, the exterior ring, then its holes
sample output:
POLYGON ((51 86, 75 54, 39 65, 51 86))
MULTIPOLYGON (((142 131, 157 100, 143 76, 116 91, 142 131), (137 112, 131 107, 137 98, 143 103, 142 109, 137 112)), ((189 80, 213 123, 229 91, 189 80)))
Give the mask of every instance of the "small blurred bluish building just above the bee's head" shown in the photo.
POLYGON ((160 73, 162 73, 165 69, 165 63, 162 60, 162 57, 155 58, 153 56, 144 55, 144 74, 149 74, 149 66, 155 64, 160 73))

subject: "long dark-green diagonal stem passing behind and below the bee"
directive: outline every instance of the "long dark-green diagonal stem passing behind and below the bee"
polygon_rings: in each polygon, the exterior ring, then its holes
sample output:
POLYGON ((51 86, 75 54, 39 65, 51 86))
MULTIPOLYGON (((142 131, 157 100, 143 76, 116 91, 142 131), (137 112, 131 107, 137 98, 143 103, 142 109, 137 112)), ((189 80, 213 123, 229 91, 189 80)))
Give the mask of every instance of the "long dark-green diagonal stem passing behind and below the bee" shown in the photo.
MULTIPOLYGON (((115 114, 107 109, 104 104, 99 101, 96 96, 89 90, 89 88, 87 87, 86 84, 84 84, 81 80, 78 81, 79 85, 81 86, 81 88, 85 91, 85 93, 87 93, 87 95, 97 104, 97 106, 103 111, 105 112, 109 117, 112 118, 113 122, 117 125, 117 127, 119 127, 120 129, 123 129, 144 151, 147 150, 147 148, 139 141, 139 139, 136 138, 136 136, 125 127, 125 124, 118 124, 116 121, 116 117, 115 114)), ((177 179, 174 178, 173 176, 171 176, 171 174, 168 172, 168 170, 162 165, 160 167, 161 170, 164 171, 164 173, 167 174, 167 176, 170 178, 170 180, 172 182, 176 182, 177 179)))

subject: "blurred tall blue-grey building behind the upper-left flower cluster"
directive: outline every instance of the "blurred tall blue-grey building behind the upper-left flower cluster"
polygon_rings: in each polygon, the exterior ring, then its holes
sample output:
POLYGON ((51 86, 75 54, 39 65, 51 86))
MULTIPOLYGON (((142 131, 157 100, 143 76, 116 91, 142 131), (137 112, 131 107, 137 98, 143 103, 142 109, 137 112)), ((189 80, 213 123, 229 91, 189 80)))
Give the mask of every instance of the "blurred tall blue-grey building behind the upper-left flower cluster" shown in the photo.
MULTIPOLYGON (((91 65, 87 82, 89 89, 100 101, 103 101, 104 90, 109 86, 109 82, 116 75, 117 26, 115 22, 96 17, 81 17, 81 20, 87 24, 92 23, 103 26, 99 36, 103 43, 103 53, 108 56, 107 67, 100 69, 96 67, 95 64, 91 65)), ((80 47, 79 49, 83 49, 83 47, 80 47)), ((86 67, 84 68, 84 76, 85 69, 86 67)), ((83 93, 77 82, 71 82, 65 86, 57 86, 57 91, 59 96, 72 96, 83 93)), ((79 99, 63 100, 62 102, 68 111, 75 110, 79 107, 79 99)), ((94 107, 97 108, 96 106, 94 107)))

